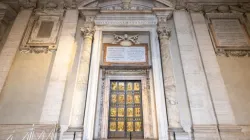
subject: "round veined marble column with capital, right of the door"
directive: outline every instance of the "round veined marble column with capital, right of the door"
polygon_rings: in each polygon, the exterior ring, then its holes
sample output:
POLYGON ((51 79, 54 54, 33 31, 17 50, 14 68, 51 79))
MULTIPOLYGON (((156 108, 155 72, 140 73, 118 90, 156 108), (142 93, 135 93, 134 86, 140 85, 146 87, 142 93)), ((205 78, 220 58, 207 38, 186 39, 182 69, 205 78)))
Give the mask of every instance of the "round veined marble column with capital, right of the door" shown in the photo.
POLYGON ((169 128, 181 128, 179 110, 176 100, 176 82, 173 72, 172 58, 169 50, 169 38, 171 31, 166 27, 158 28, 160 47, 161 47, 161 62, 163 70, 164 90, 166 96, 168 124, 169 128))

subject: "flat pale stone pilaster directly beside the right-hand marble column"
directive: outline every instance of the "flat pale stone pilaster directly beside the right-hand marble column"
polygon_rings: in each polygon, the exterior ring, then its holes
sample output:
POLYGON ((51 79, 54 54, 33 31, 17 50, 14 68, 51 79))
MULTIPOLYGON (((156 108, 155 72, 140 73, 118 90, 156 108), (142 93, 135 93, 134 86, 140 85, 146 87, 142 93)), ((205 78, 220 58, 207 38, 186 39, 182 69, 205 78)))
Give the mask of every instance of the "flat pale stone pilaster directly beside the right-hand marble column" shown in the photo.
POLYGON ((216 125, 208 83, 190 15, 185 10, 175 11, 174 21, 193 125, 216 125))

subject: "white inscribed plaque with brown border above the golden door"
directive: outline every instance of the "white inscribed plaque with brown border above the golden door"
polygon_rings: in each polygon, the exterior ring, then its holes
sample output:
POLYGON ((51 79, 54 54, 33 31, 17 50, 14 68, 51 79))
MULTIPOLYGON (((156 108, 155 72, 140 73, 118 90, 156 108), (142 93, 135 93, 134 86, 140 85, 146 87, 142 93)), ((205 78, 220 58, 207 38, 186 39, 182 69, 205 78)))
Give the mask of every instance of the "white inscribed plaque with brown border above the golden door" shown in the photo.
POLYGON ((147 45, 120 46, 104 44, 104 65, 147 64, 147 45))

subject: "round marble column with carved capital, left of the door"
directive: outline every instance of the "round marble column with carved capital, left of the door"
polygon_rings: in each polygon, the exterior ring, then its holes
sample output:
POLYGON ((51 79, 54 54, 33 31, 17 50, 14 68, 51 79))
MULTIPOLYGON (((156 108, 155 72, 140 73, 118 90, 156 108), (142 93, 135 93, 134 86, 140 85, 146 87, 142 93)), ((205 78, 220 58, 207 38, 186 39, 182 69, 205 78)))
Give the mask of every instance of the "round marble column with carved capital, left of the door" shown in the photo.
POLYGON ((80 60, 78 62, 77 80, 73 94, 73 111, 70 120, 70 127, 83 127, 85 101, 87 95, 89 65, 94 35, 93 28, 81 28, 84 44, 81 46, 80 60))

